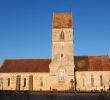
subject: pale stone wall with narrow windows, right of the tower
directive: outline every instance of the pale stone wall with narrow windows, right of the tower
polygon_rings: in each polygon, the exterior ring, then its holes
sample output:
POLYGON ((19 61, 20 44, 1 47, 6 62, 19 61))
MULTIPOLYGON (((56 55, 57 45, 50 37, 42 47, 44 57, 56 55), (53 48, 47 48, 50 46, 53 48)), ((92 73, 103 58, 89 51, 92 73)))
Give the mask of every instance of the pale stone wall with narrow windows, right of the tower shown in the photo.
POLYGON ((79 91, 108 90, 110 71, 79 71, 76 72, 76 81, 79 91))

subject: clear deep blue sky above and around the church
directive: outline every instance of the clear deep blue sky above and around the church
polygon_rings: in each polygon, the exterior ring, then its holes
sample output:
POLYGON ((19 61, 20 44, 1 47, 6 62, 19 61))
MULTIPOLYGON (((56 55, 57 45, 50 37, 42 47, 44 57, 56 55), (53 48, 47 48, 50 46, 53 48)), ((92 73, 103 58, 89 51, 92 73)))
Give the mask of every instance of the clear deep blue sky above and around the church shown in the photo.
POLYGON ((0 64, 51 58, 52 14, 72 12, 74 54, 110 54, 110 0, 0 0, 0 64))

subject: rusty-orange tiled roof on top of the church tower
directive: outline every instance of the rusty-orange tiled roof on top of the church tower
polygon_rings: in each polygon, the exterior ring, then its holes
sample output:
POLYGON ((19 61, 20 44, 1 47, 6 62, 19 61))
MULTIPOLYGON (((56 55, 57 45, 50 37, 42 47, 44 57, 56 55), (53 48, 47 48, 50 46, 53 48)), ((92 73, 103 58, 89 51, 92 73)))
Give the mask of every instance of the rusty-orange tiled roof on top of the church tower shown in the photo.
POLYGON ((54 13, 53 28, 72 28, 72 13, 54 13))

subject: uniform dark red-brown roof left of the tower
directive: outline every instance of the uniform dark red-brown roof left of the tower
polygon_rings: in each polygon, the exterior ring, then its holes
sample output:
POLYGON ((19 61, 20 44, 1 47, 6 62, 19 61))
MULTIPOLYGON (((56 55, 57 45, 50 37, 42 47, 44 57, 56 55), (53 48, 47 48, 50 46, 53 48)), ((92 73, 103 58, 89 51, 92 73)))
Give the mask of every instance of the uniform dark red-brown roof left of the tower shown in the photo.
POLYGON ((7 59, 0 72, 49 72, 50 59, 7 59))

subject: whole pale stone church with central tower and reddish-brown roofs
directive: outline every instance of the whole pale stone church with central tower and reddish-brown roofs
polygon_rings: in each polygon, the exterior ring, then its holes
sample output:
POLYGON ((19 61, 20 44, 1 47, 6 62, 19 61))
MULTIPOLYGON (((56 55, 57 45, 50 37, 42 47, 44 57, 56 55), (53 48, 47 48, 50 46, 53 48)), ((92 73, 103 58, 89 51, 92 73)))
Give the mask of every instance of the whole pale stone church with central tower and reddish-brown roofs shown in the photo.
POLYGON ((54 13, 51 59, 5 59, 0 90, 110 89, 110 56, 75 56, 72 13, 54 13))

